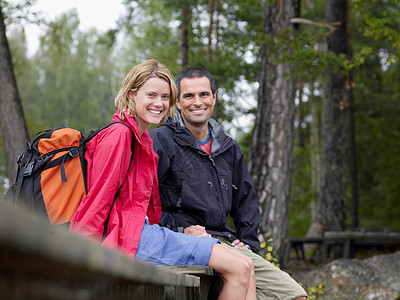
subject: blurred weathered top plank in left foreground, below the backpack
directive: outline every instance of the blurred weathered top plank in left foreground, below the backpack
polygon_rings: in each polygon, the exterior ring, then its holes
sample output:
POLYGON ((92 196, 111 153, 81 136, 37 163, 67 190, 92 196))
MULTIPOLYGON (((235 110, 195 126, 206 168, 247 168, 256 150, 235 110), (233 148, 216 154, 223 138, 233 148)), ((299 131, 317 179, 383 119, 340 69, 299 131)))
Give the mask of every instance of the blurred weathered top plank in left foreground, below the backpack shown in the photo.
POLYGON ((65 228, 50 226, 2 200, 0 247, 3 254, 9 254, 7 259, 0 259, 0 273, 3 275, 14 269, 22 272, 23 268, 27 274, 42 269, 51 276, 68 270, 71 276, 78 276, 77 279, 82 278, 79 274, 92 274, 94 278, 106 276, 155 285, 194 288, 200 285, 198 276, 179 274, 133 260, 65 228), (13 253, 16 253, 14 258, 13 253))

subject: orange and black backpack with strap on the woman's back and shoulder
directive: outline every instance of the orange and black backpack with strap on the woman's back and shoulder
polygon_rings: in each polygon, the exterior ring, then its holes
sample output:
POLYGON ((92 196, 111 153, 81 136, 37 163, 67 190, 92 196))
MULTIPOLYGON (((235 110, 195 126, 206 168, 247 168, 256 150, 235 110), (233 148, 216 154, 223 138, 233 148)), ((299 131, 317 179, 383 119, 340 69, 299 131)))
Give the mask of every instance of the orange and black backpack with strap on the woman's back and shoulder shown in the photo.
MULTIPOLYGON (((111 122, 86 136, 68 127, 49 129, 38 132, 27 143, 25 152, 18 156, 17 177, 7 191, 6 200, 12 197, 12 202, 45 217, 50 224, 68 225, 87 194, 86 145, 99 132, 118 123, 128 127, 132 133, 128 173, 133 160, 134 134, 127 124, 111 122)), ((111 209, 123 184, 124 181, 115 193, 104 225, 103 238, 111 209)))

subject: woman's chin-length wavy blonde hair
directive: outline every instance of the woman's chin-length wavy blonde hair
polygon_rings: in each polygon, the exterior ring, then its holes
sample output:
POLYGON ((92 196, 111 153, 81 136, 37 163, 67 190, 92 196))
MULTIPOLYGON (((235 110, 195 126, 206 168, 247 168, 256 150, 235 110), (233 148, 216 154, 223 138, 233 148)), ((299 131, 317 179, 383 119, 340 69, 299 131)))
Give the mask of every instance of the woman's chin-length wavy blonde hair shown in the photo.
POLYGON ((119 115, 122 120, 125 119, 124 111, 127 111, 129 115, 131 115, 133 118, 136 118, 135 103, 129 99, 128 94, 130 90, 137 92, 149 78, 164 79, 168 82, 171 89, 168 112, 161 122, 163 122, 168 116, 174 115, 176 99, 178 95, 174 78, 165 65, 154 59, 151 59, 142 64, 134 66, 129 71, 128 75, 126 75, 122 88, 115 98, 115 106, 117 109, 119 109, 119 115))

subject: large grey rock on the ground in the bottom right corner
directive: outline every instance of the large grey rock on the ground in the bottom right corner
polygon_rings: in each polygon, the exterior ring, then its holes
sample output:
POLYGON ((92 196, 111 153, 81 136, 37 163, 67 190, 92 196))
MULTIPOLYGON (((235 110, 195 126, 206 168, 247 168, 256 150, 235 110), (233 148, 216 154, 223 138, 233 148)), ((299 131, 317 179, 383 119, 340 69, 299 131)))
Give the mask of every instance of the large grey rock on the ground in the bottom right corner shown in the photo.
POLYGON ((322 284, 323 294, 317 299, 399 300, 400 251, 364 260, 338 259, 292 276, 306 289, 322 284))

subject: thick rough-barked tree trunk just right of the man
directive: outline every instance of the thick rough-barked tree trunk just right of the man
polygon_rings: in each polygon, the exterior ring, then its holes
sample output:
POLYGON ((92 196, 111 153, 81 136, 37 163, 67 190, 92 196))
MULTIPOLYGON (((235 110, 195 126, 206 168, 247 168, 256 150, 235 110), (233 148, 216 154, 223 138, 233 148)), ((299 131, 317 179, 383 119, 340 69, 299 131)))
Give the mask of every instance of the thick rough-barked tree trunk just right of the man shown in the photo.
MULTIPOLYGON (((296 17, 296 4, 297 1, 276 1, 266 6, 263 22, 269 42, 276 43, 281 32, 293 30, 290 19, 296 17)), ((273 239, 269 244, 272 255, 281 260, 288 237, 296 90, 289 64, 269 61, 272 55, 267 43, 263 44, 261 55, 249 169, 261 209, 260 240, 269 235, 273 239)), ((265 249, 260 254, 265 255, 265 249)))

